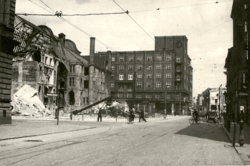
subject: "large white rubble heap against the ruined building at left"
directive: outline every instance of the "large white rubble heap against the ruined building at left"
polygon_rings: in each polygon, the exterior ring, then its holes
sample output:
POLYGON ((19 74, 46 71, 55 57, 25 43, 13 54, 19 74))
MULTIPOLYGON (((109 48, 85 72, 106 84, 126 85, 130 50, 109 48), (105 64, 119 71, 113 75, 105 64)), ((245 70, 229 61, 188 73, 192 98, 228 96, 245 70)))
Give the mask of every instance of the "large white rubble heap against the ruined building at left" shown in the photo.
POLYGON ((12 114, 25 116, 48 116, 51 114, 39 99, 37 90, 29 85, 24 85, 13 94, 11 105, 13 107, 12 114))

